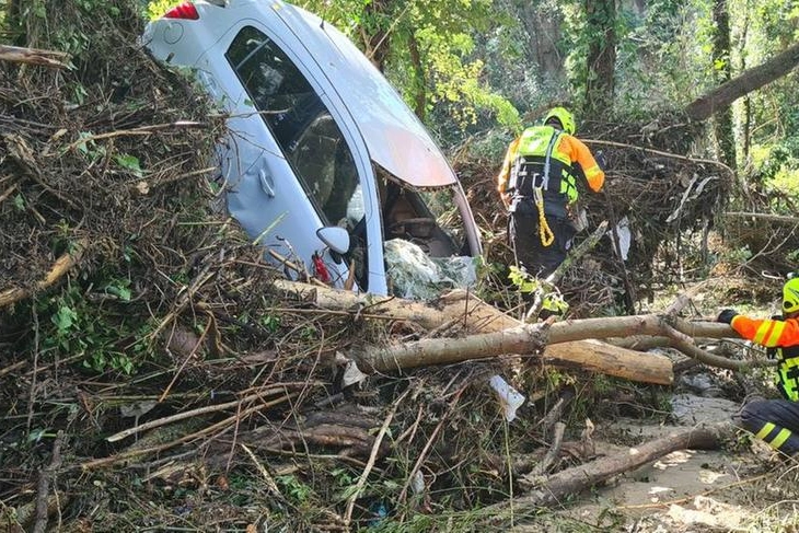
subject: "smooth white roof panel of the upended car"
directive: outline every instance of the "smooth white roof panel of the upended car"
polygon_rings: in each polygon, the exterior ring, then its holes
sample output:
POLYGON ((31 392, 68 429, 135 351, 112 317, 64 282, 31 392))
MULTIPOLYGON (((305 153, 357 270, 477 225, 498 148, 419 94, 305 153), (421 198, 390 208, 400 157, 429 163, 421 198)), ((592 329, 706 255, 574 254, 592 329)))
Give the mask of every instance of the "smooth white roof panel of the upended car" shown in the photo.
POLYGON ((372 161, 413 186, 458 183, 418 117, 346 35, 301 8, 275 2, 273 9, 348 108, 372 161))

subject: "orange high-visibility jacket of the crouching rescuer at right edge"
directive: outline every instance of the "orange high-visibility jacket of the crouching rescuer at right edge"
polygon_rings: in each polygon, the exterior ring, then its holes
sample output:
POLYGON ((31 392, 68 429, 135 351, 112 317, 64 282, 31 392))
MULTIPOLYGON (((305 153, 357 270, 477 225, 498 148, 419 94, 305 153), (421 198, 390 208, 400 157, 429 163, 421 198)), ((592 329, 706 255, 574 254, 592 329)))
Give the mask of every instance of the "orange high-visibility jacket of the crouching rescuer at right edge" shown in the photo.
POLYGON ((799 401, 799 320, 762 320, 739 314, 730 325, 741 337, 776 348, 777 389, 786 399, 799 401))

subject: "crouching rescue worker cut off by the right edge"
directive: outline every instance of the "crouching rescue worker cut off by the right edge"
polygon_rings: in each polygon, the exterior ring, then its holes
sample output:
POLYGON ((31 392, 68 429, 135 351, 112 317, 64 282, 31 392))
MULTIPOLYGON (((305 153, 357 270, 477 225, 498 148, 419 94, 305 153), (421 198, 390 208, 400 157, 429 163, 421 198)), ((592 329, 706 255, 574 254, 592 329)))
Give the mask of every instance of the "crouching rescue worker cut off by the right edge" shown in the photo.
POLYGON ((750 318, 732 309, 719 313, 723 322, 743 338, 773 348, 779 361, 779 399, 756 399, 744 405, 741 425, 786 455, 799 452, 799 277, 789 276, 783 287, 783 315, 771 320, 750 318))

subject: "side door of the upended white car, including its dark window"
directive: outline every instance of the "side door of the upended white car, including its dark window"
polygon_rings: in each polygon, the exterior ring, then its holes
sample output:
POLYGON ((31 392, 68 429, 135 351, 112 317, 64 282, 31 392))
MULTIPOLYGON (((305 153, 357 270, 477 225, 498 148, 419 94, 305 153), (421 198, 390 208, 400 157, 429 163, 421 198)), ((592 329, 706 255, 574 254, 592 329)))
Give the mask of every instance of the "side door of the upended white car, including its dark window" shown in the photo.
POLYGON ((352 128, 306 73, 297 46, 273 30, 241 21, 219 44, 235 73, 228 83, 241 85, 224 91, 239 94, 223 150, 228 208, 259 242, 305 265, 323 248, 317 229, 348 228, 352 250, 344 257, 320 254, 326 269, 343 285, 355 268, 361 289, 385 292, 379 217, 377 229, 374 217, 368 217, 377 192, 366 150, 357 150, 352 128))

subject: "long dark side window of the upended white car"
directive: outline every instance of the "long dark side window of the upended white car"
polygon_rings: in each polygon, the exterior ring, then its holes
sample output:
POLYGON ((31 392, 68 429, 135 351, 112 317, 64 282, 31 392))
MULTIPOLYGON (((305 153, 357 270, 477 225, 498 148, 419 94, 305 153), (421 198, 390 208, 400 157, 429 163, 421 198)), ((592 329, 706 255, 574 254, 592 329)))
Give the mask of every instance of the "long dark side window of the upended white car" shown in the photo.
POLYGON ((252 26, 242 28, 225 57, 325 223, 355 225, 363 216, 355 159, 308 79, 252 26))

